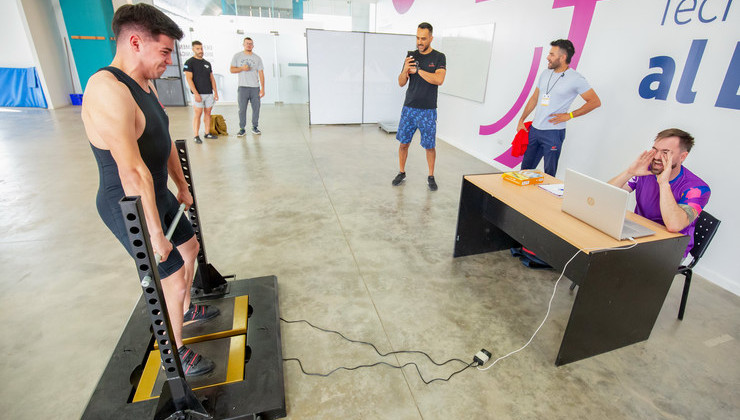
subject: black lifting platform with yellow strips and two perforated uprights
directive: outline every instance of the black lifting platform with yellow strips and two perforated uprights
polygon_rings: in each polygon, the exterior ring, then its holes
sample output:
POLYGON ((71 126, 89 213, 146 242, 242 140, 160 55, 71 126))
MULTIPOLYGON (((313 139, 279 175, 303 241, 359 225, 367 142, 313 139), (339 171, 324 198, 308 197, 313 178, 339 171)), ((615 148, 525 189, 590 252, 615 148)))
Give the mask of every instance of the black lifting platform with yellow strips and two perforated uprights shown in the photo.
MULTIPOLYGON (((192 193, 185 141, 178 140, 176 147, 192 193)), ((185 378, 141 200, 124 197, 121 209, 143 293, 82 419, 285 417, 277 278, 266 276, 227 283, 205 258, 195 194, 193 199, 188 217, 201 245, 197 270, 201 273, 200 297, 208 299, 208 304, 218 307, 221 313, 213 320, 185 326, 183 341, 213 360, 215 370, 185 378)))

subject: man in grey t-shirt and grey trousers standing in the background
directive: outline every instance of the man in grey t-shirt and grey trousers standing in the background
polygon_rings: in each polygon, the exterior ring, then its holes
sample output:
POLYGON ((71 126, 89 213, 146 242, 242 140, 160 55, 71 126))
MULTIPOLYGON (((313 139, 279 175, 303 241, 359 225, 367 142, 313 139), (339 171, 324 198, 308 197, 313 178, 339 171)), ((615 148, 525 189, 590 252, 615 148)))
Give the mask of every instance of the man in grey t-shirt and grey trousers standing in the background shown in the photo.
POLYGON ((244 137, 247 125, 247 104, 252 103, 252 134, 262 134, 257 128, 260 119, 260 98, 265 96, 265 73, 262 59, 252 52, 254 41, 244 38, 244 51, 239 51, 231 59, 231 72, 239 74, 239 137, 244 137))

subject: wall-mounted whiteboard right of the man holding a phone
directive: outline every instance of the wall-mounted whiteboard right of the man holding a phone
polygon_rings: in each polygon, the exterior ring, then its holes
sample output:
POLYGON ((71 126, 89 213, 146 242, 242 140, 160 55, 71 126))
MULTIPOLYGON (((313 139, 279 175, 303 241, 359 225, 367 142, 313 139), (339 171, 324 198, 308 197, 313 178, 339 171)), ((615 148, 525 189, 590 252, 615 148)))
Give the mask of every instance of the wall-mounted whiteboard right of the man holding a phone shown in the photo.
POLYGON ((447 58, 441 93, 484 102, 495 24, 443 29, 435 41, 447 58))

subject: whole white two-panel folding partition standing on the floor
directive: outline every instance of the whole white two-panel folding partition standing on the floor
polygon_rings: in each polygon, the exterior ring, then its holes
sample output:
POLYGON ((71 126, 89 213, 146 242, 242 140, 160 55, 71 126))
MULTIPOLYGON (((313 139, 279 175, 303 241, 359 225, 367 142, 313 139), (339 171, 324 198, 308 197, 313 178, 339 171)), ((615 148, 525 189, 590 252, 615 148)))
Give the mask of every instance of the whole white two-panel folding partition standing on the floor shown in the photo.
POLYGON ((311 124, 398 121, 413 35, 306 30, 311 124), (359 58, 358 58, 359 53, 359 58))

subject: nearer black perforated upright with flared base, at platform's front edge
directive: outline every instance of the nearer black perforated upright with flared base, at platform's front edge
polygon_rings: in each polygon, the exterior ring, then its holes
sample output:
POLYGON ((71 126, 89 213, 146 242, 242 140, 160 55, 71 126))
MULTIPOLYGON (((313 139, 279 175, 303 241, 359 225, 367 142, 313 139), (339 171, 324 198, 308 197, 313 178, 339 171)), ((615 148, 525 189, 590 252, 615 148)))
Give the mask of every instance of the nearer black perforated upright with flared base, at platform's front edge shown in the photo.
POLYGON ((146 301, 151 318, 154 339, 159 344, 162 365, 167 376, 154 419, 212 418, 185 381, 157 270, 157 261, 149 241, 141 197, 124 197, 119 204, 134 253, 143 299, 146 301))

